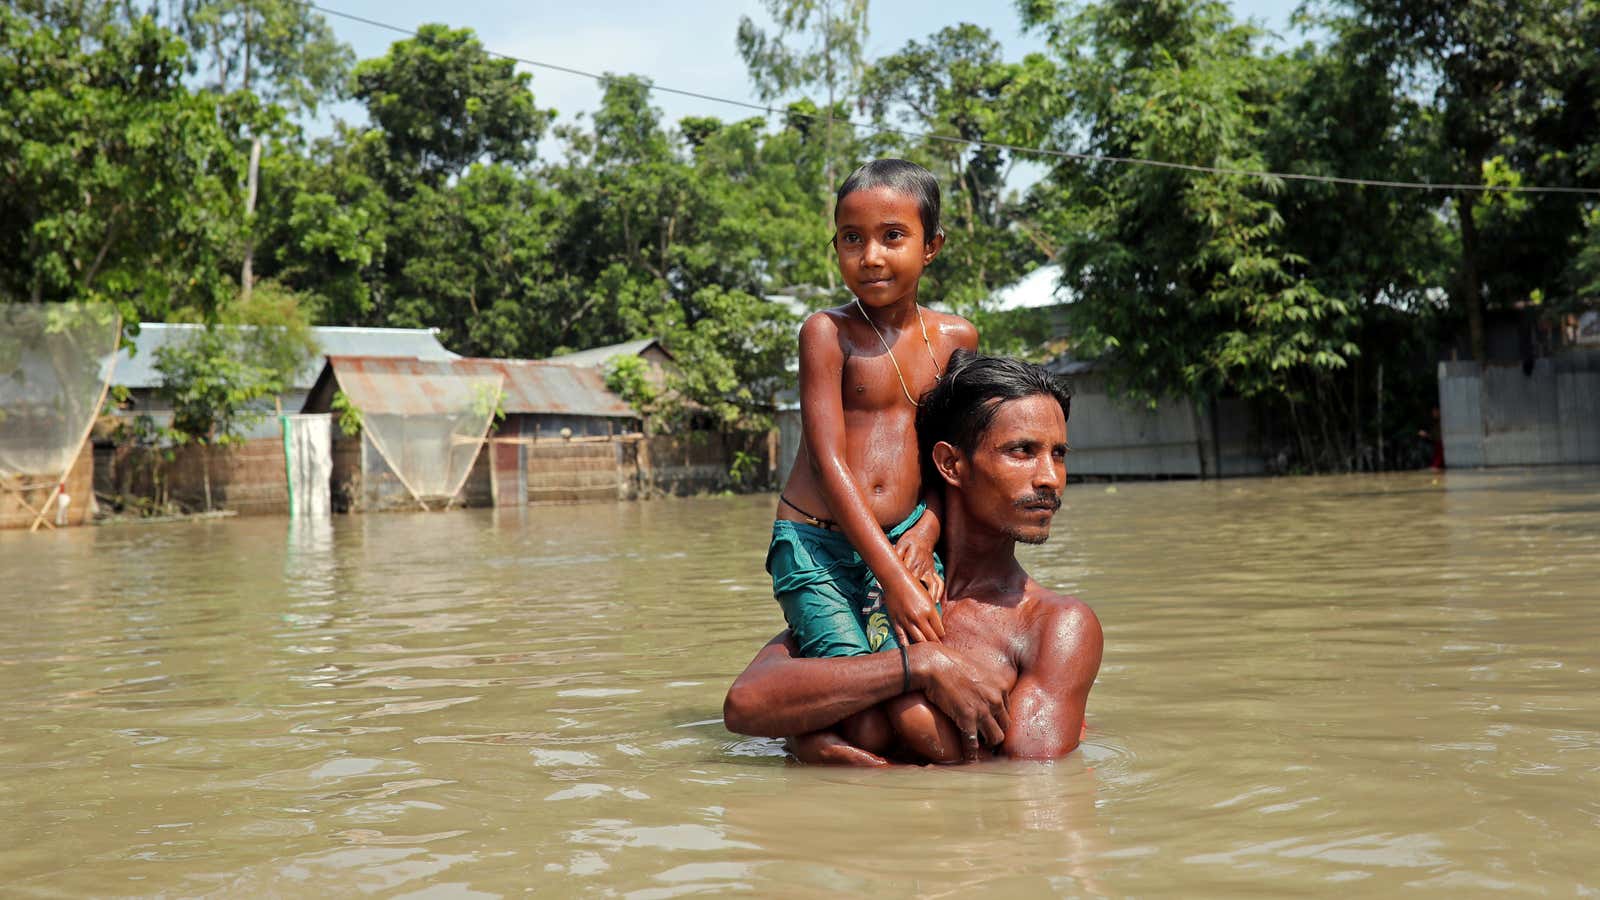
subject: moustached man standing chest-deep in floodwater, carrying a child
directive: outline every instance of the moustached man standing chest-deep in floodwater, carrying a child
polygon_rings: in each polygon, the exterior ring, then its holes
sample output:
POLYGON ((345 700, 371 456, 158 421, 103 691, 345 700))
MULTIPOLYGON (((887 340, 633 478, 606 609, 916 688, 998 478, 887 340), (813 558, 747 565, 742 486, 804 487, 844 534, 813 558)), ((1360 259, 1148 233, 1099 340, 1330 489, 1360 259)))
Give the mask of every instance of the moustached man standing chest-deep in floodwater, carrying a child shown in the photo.
POLYGON ((1045 543, 1061 506, 1069 408, 1069 394, 1043 368, 957 352, 917 413, 925 480, 944 485, 944 642, 912 644, 904 663, 899 653, 805 658, 784 631, 728 689, 728 729, 822 732, 824 740, 794 745, 803 761, 888 765, 832 729, 923 692, 955 722, 968 761, 990 753, 1046 759, 1077 748, 1099 673, 1099 620, 1016 560, 1016 541, 1045 543))

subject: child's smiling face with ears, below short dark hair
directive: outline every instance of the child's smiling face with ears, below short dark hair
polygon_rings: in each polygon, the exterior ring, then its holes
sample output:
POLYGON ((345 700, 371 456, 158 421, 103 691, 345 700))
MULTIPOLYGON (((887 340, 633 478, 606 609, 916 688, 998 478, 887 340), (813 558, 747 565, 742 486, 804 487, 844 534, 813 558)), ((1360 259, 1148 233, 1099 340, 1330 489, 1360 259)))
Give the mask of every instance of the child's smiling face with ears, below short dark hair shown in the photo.
POLYGON ((850 293, 872 307, 917 299, 917 280, 944 247, 925 240, 917 199, 893 187, 846 194, 834 211, 834 250, 850 293))

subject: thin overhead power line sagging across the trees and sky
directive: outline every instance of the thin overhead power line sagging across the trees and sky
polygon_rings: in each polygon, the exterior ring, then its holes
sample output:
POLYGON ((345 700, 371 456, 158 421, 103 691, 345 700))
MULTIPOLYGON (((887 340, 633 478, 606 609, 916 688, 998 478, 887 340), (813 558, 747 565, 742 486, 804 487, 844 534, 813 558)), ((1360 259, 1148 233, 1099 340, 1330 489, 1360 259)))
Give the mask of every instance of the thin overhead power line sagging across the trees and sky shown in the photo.
MULTIPOLYGON (((334 16, 339 19, 349 19, 352 22, 362 22, 365 26, 373 26, 376 29, 390 30, 406 37, 418 37, 418 32, 402 26, 381 22, 378 19, 368 19, 365 16, 357 16, 352 13, 342 13, 339 10, 331 10, 320 3, 307 2, 307 8, 317 10, 318 13, 334 16)), ((485 48, 490 56, 498 56, 501 59, 510 59, 514 62, 522 62, 525 66, 533 66, 536 69, 549 69, 552 72, 565 72, 568 75, 579 75, 582 78, 592 78, 605 85, 606 82, 614 82, 627 78, 632 75, 605 75, 598 72, 586 72, 582 69, 574 69, 571 66, 558 66, 555 62, 542 62, 539 59, 528 59, 526 56, 514 56, 510 53, 499 53, 496 50, 485 48)), ((1179 171, 1198 171, 1203 175, 1237 175, 1245 178, 1280 178, 1283 181, 1315 181, 1323 184, 1354 184, 1362 187, 1392 187, 1400 191, 1475 191, 1482 194, 1586 194, 1600 197, 1600 187, 1541 187, 1541 186, 1514 186, 1514 184, 1451 184, 1451 183, 1434 183, 1434 181, 1387 181, 1378 178, 1347 178, 1339 175, 1306 175, 1296 171, 1266 171, 1253 168, 1230 168, 1230 167, 1214 167, 1214 165, 1195 165, 1184 162, 1168 162, 1168 160, 1149 160, 1141 157, 1115 157, 1106 154, 1075 154, 1072 151, 1058 151, 1051 147, 1029 147, 1022 144, 1006 144, 1002 141, 979 141, 973 138, 960 138, 955 135, 934 135, 930 131, 912 131, 907 128, 894 128, 893 125, 880 125, 877 122, 856 122, 853 119, 834 119, 819 112, 797 112, 792 109, 779 109, 760 102, 750 102, 744 99, 733 99, 725 96, 707 94, 702 91, 690 91, 683 88, 670 88, 666 85, 654 83, 651 80, 638 77, 638 82, 648 90, 664 94, 677 94, 694 99, 704 99, 710 102, 720 102, 725 106, 738 106, 741 109, 750 109, 766 115, 800 115, 814 120, 832 120, 840 125, 848 125, 851 128, 864 130, 877 135, 899 135, 902 138, 915 138, 923 141, 941 141, 946 144, 965 144, 970 147, 984 147, 994 151, 1006 151, 1010 154, 1034 155, 1034 157, 1053 157, 1067 159, 1077 162, 1101 162, 1101 163, 1117 163, 1117 165, 1144 165, 1150 168, 1171 168, 1179 171)))

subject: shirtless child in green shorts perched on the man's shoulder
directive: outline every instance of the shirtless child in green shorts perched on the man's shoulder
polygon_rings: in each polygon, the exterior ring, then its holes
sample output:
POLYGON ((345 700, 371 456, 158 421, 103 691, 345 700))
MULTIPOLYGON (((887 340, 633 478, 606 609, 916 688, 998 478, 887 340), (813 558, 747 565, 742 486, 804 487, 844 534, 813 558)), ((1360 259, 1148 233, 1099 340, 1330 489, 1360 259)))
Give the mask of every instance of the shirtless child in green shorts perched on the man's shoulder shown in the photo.
MULTIPOLYGON (((944 634, 938 496, 923 498, 917 397, 955 349, 978 348, 978 331, 917 303, 922 274, 944 247, 931 171, 874 160, 840 184, 837 200, 834 250, 854 299, 800 328, 805 440, 778 495, 766 570, 802 657, 885 653, 904 669, 912 641, 944 634)), ((790 743, 816 756, 835 732, 874 753, 899 746, 923 761, 962 761, 955 725, 915 692, 790 743)))

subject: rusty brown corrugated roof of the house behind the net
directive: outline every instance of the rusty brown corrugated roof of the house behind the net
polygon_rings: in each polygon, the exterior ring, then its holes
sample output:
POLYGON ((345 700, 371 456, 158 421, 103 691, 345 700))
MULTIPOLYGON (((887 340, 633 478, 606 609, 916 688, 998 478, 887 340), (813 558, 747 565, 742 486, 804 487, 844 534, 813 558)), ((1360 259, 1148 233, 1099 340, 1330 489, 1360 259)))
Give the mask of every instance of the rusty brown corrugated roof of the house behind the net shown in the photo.
POLYGON ((347 394, 384 397, 371 413, 427 415, 435 408, 438 383, 467 376, 499 375, 507 415, 566 413, 579 416, 638 418, 621 397, 606 391, 592 368, 549 365, 522 359, 451 359, 330 356, 328 365, 347 394), (402 378, 397 378, 402 376, 402 378), (365 380, 365 381, 363 381, 365 380))

